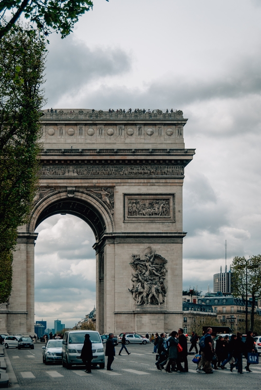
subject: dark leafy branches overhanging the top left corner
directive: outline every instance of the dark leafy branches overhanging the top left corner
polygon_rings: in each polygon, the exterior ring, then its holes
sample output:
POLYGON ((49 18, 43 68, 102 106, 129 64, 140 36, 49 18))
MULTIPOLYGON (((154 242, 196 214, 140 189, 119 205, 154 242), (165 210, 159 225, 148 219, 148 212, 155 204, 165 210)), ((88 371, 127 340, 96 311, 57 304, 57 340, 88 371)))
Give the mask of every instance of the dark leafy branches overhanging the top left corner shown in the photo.
POLYGON ((51 30, 60 32, 62 38, 72 32, 79 16, 93 7, 91 0, 1 0, 0 1, 0 39, 12 28, 23 15, 45 35, 51 30), (11 18, 7 20, 6 15, 11 18))

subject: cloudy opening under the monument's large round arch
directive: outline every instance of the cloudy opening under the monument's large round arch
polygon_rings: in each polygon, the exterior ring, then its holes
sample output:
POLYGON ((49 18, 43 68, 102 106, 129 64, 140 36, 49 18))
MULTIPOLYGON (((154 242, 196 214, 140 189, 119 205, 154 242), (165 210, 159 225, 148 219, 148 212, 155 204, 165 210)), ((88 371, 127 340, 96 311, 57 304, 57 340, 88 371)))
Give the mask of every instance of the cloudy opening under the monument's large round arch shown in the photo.
POLYGON ((49 329, 57 319, 74 327, 96 301, 96 232, 82 217, 81 206, 67 214, 68 205, 72 202, 45 209, 36 229, 35 319, 47 321, 49 329))

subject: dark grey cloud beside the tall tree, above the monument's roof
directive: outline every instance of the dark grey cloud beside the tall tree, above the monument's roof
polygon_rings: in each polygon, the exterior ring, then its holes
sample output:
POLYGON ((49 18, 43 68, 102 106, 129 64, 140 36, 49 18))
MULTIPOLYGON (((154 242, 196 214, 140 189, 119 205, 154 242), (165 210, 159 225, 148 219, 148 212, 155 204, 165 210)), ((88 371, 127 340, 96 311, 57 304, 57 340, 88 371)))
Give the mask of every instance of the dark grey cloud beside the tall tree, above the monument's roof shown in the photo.
POLYGON ((96 47, 91 50, 83 41, 69 36, 50 38, 46 64, 46 98, 54 105, 62 95, 78 95, 83 85, 94 78, 120 75, 130 70, 130 57, 121 49, 96 47))

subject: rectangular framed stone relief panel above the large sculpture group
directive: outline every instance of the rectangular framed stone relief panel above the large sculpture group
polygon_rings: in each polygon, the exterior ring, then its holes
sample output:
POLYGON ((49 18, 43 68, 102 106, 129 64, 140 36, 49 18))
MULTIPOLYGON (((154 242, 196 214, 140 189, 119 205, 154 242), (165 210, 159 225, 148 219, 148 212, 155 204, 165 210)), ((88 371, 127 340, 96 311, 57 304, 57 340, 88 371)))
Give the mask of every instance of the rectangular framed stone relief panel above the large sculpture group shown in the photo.
POLYGON ((175 194, 124 194, 124 222, 175 222, 175 194))

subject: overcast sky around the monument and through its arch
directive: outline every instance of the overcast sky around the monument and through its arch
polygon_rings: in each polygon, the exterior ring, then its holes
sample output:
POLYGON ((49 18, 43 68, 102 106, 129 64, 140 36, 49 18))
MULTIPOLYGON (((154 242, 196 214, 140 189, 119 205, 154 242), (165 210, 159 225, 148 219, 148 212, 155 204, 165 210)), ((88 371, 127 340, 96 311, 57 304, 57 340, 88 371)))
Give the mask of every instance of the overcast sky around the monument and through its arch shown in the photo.
MULTIPOLYGON (((93 3, 50 37, 46 108, 184 112, 184 289, 213 291, 225 239, 228 265, 261 253, 261 1, 93 3)), ((70 215, 37 232, 36 319, 73 326, 95 302, 93 233, 70 215)))

